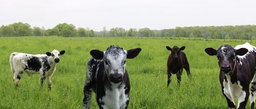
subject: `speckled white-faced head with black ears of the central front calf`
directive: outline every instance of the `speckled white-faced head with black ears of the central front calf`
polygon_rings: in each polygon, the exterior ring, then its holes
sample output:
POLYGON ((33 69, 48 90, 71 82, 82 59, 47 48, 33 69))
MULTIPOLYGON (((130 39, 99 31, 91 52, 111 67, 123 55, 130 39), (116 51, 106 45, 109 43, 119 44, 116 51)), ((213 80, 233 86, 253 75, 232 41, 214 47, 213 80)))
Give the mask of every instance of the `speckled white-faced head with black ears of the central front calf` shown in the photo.
POLYGON ((113 83, 120 83, 125 74, 126 59, 133 59, 141 52, 141 48, 123 50, 119 46, 110 46, 106 51, 91 50, 94 59, 103 59, 105 73, 113 83))

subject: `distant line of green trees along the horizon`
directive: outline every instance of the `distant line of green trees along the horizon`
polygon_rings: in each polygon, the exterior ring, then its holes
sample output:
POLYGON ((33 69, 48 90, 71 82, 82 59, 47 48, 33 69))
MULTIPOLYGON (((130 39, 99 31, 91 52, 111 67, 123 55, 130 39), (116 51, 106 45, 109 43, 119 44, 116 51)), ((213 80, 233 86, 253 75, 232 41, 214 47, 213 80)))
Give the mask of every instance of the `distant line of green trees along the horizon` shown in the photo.
POLYGON ((256 40, 256 25, 236 26, 193 26, 176 27, 175 29, 150 30, 149 28, 125 30, 121 27, 101 31, 90 30, 88 27, 76 28, 72 24, 58 24, 52 29, 31 27, 27 23, 14 23, 0 27, 0 37, 12 36, 64 36, 64 37, 166 37, 166 38, 202 38, 202 39, 240 39, 256 40))

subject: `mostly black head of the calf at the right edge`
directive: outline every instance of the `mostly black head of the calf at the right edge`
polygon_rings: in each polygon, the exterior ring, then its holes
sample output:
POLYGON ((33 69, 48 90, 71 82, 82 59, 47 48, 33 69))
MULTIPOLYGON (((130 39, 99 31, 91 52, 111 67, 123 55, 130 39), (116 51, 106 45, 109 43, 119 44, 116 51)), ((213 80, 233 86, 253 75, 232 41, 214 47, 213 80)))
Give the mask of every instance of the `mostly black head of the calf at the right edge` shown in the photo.
POLYGON ((225 74, 230 74, 236 66, 236 55, 244 55, 248 52, 246 48, 234 49, 231 45, 221 45, 217 50, 206 48, 205 52, 209 55, 216 55, 220 70, 225 74))

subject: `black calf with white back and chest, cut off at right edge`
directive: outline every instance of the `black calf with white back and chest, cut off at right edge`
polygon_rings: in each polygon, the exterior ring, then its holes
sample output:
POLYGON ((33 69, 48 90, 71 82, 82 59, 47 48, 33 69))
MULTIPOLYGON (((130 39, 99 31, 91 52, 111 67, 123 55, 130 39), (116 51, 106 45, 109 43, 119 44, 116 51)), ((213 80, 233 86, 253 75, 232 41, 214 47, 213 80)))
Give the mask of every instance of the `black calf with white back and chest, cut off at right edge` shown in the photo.
POLYGON ((237 45, 221 45, 217 50, 206 48, 206 53, 216 55, 220 67, 220 83, 222 94, 226 97, 229 109, 235 109, 234 99, 238 98, 237 109, 245 109, 248 98, 251 109, 256 99, 256 48, 249 43, 237 45), (249 85, 251 83, 251 90, 249 85))

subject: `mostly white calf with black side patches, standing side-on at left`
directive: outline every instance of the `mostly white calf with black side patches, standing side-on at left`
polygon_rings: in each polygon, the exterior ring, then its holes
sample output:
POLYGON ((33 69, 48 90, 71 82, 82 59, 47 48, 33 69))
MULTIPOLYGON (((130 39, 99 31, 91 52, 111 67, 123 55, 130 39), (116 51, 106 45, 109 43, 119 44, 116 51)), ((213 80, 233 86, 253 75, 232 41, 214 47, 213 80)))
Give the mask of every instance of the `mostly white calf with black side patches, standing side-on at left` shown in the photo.
POLYGON ((18 87, 22 74, 25 72, 28 76, 32 74, 40 74, 41 87, 43 81, 47 80, 48 89, 51 89, 50 77, 56 69, 56 64, 60 61, 60 55, 65 51, 53 50, 51 53, 46 54, 25 54, 13 52, 10 54, 10 67, 11 72, 14 74, 13 81, 15 86, 18 87))

